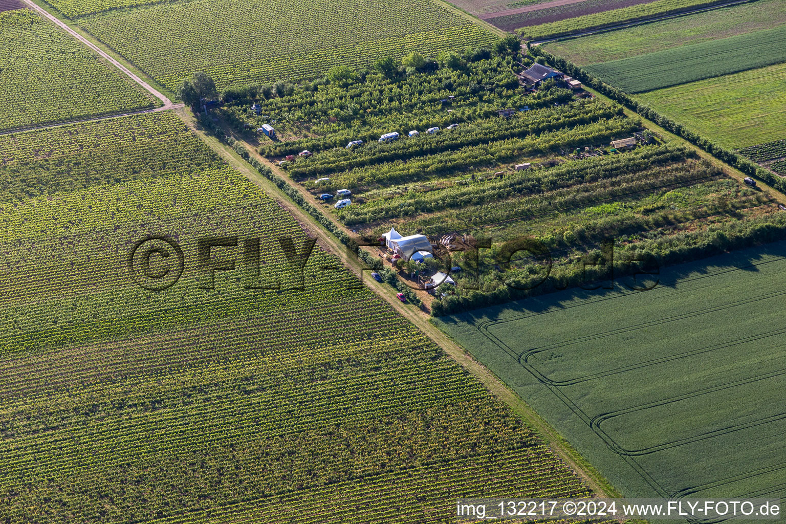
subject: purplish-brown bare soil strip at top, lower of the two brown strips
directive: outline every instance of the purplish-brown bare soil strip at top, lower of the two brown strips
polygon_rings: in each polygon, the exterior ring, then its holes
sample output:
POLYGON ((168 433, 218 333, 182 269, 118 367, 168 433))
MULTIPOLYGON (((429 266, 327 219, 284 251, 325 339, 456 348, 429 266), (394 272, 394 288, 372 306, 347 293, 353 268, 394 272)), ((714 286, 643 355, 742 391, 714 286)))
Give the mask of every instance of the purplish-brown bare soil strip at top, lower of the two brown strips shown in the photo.
POLYGON ((499 27, 503 31, 513 31, 527 25, 547 24, 594 13, 603 13, 611 9, 620 9, 630 5, 639 5, 652 2, 652 0, 556 0, 538 5, 526 5, 518 9, 509 9, 505 15, 494 13, 483 16, 483 19, 499 27))

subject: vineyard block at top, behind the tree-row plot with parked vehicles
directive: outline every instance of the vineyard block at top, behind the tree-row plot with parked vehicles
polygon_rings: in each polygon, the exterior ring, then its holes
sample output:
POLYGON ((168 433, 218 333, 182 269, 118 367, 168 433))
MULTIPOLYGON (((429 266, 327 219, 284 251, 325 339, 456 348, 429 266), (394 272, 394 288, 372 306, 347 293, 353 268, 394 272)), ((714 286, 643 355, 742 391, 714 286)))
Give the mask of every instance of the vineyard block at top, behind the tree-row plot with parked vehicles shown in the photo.
POLYGON ((193 0, 109 12, 80 26, 164 86, 206 71, 219 90, 308 79, 412 51, 494 42, 496 37, 432 0, 193 0))

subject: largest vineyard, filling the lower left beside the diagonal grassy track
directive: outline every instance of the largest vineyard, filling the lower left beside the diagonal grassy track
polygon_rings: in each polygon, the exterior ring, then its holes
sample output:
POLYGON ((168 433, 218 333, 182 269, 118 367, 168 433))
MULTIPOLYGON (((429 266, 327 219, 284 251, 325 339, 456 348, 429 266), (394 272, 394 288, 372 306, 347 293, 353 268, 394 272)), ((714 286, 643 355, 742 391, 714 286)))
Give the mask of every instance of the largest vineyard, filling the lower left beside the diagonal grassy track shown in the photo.
POLYGON ((587 493, 170 112, 0 137, 0 223, 3 522, 454 522, 457 497, 587 493))

